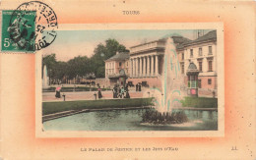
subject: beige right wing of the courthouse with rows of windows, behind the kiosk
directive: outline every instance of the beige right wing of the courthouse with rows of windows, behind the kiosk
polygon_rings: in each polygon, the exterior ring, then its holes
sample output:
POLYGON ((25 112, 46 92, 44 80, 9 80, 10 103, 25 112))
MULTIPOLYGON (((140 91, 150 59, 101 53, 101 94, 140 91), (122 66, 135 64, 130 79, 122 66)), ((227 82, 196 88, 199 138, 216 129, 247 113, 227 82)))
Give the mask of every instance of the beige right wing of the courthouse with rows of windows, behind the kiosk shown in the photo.
MULTIPOLYGON (((199 95, 217 96, 217 32, 210 31, 195 40, 177 46, 181 74, 186 75, 190 63, 199 70, 199 95)), ((185 82, 187 82, 187 77, 185 82)))

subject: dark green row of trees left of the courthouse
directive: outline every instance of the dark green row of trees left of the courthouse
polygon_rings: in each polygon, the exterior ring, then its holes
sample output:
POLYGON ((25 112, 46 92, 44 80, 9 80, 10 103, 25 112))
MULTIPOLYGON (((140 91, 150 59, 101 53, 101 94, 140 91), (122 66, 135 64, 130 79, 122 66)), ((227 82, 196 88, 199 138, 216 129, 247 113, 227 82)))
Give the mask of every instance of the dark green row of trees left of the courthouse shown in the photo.
POLYGON ((56 55, 50 54, 42 58, 43 66, 47 66, 50 81, 62 80, 67 78, 72 80, 77 77, 83 77, 90 73, 95 73, 96 78, 104 78, 104 61, 116 54, 116 52, 127 52, 126 47, 115 39, 105 40, 105 45, 99 43, 91 58, 87 56, 78 56, 68 62, 56 61, 56 55))

